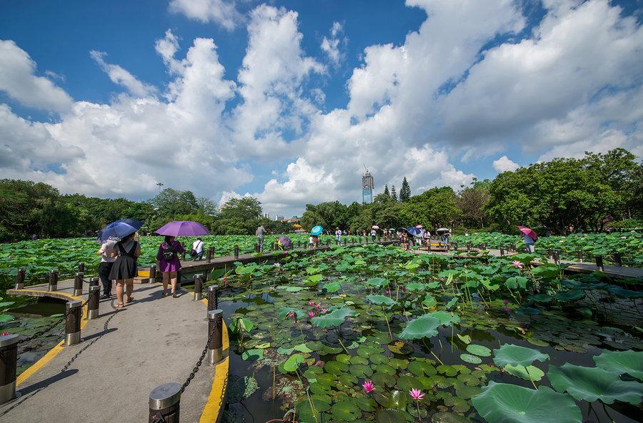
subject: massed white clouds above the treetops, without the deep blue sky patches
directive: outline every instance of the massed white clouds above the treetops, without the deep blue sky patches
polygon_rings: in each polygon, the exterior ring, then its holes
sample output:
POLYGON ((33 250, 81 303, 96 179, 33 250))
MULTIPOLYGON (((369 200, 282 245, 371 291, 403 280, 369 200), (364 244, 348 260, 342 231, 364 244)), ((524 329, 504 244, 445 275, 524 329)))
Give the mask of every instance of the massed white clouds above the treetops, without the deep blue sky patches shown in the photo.
MULTIPOLYGON (((171 182, 226 200, 255 178, 254 163, 286 160, 249 194, 266 212, 288 215, 306 203, 359 198, 363 163, 376 190, 406 176, 415 194, 458 189, 475 177, 465 162, 509 147, 532 161, 616 147, 643 154, 643 29, 619 8, 547 0, 544 19, 512 41, 526 26, 514 1, 407 6, 426 11, 422 26, 403 44, 367 46, 346 81, 348 103, 329 111, 324 90, 309 81, 342 60, 343 26, 334 23, 321 41, 326 57, 315 58, 302 47, 298 14, 284 8, 261 4, 243 17, 234 2, 171 1, 190 19, 229 30, 246 23, 235 80, 226 79, 214 39, 194 39, 181 57, 168 30, 150 46, 171 76, 167 86, 109 63, 109 51, 91 52, 126 90, 104 104, 74 101, 38 76, 28 52, 0 41, 0 91, 59 116, 31 121, 0 103, 0 175, 133 198, 171 182), (507 41, 488 47, 499 37, 507 41)), ((503 155, 492 167, 519 165, 503 155)))

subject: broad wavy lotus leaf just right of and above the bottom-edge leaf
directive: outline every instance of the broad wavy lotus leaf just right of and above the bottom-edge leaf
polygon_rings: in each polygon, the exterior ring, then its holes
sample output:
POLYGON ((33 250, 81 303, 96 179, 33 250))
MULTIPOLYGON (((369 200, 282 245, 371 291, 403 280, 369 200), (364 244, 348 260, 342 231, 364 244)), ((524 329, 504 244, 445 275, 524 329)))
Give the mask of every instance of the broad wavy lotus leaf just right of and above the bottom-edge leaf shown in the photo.
POLYGON ((565 363, 549 367, 547 378, 558 392, 566 392, 574 399, 605 404, 615 400, 636 405, 643 397, 643 383, 621 380, 618 374, 600 367, 582 367, 565 363))

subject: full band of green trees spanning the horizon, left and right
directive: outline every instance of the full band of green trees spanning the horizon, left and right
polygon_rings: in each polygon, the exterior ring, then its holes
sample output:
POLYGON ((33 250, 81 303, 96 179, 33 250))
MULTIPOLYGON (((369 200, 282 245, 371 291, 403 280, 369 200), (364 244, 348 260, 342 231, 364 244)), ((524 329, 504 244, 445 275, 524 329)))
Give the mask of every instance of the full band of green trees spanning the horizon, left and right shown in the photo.
MULTIPOLYGON (((565 233, 569 227, 600 231, 643 227, 643 165, 622 148, 586 153, 583 158, 557 158, 535 163, 494 180, 474 180, 454 191, 431 188, 411 195, 407 178, 397 191, 392 186, 372 204, 339 201, 307 204, 301 216, 305 229, 322 225, 333 230, 365 230, 424 225, 454 230, 515 231, 527 225, 546 233, 565 233)), ((0 180, 0 241, 90 236, 121 218, 144 222, 151 233, 171 220, 194 220, 216 235, 254 233, 259 224, 274 233, 293 229, 289 223, 261 217, 261 203, 253 197, 231 198, 219 206, 189 190, 166 188, 151 200, 105 199, 61 195, 46 183, 0 180)))

